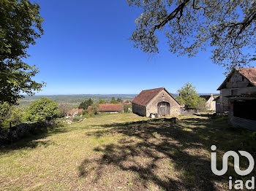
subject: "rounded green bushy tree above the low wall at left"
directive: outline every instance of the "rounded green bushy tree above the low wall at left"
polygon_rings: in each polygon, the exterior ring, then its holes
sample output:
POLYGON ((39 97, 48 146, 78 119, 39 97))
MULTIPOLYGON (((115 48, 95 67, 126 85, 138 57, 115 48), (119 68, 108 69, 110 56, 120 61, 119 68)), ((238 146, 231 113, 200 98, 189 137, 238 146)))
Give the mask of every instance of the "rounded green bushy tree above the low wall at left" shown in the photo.
POLYGON ((59 106, 56 101, 49 98, 40 98, 29 104, 29 108, 26 109, 25 117, 29 122, 42 122, 56 119, 59 113, 59 106))

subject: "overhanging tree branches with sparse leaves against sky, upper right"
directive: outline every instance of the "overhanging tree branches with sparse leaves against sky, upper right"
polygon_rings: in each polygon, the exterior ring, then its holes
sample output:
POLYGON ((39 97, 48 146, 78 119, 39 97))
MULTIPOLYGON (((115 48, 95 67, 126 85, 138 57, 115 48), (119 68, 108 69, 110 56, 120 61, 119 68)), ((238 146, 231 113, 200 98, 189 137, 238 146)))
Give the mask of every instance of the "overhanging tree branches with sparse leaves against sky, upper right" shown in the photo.
POLYGON ((164 31, 170 52, 195 55, 211 47, 211 59, 227 70, 255 59, 256 1, 127 0, 143 13, 130 39, 143 52, 159 52, 158 31, 164 31))

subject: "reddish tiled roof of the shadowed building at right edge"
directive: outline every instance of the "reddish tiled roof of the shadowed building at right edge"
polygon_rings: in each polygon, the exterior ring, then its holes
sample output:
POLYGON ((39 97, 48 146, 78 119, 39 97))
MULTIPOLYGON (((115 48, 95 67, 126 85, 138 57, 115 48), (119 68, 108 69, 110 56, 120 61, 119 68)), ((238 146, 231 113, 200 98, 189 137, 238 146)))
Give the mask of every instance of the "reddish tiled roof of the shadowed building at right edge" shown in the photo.
POLYGON ((222 82, 222 85, 220 85, 217 90, 221 90, 222 87, 224 87, 225 83, 227 82, 227 79, 230 79, 230 77, 235 71, 238 71, 241 75, 243 75, 246 79, 248 79, 249 82, 252 83, 252 85, 256 86, 256 68, 241 68, 241 69, 233 69, 233 71, 231 71, 230 74, 228 74, 225 81, 222 82))

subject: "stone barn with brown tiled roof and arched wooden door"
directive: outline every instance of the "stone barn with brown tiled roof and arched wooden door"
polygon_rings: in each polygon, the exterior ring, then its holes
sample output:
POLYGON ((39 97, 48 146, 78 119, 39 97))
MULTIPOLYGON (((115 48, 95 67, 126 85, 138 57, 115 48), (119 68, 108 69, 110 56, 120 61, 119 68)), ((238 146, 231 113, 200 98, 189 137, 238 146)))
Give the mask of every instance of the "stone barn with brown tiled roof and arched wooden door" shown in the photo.
POLYGON ((149 117, 150 114, 176 116, 181 114, 181 105, 165 87, 159 87, 140 92, 132 101, 132 112, 145 117, 149 117))

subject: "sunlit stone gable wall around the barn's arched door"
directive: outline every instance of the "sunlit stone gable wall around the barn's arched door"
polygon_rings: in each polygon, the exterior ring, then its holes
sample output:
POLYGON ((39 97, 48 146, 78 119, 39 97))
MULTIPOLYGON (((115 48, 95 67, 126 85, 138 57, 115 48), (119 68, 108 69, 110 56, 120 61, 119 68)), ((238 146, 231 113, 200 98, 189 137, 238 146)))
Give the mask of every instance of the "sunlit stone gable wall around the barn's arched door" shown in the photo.
POLYGON ((169 95, 169 93, 167 93, 165 90, 162 90, 148 103, 146 107, 146 117, 149 117, 151 113, 157 114, 157 104, 162 101, 170 104, 171 116, 177 116, 181 114, 181 105, 179 105, 177 101, 169 95))

